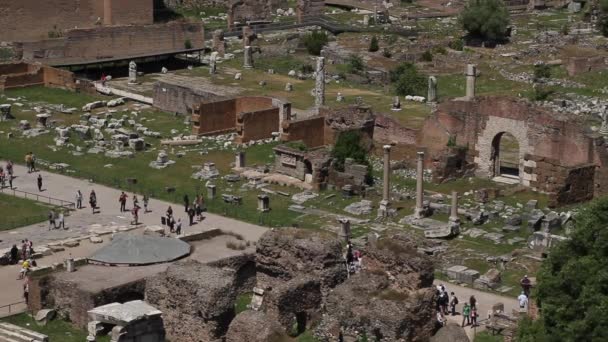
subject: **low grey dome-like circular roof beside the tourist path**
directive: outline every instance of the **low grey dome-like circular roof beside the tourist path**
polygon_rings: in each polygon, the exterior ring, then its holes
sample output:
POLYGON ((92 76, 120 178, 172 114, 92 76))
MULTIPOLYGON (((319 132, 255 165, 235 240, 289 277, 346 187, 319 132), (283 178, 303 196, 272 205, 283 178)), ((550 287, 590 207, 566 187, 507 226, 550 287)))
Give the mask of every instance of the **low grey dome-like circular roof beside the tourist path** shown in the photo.
POLYGON ((104 265, 142 266, 160 264, 190 254, 190 245, 180 239, 148 235, 117 234, 89 261, 104 265))

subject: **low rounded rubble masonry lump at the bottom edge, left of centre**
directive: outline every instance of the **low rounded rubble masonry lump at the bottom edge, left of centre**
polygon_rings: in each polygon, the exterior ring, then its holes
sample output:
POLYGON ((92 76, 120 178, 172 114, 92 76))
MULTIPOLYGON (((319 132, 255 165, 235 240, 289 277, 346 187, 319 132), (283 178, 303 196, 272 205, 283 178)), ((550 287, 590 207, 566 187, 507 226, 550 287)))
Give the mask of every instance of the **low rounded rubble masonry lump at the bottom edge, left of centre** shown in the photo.
POLYGON ((287 340, 279 323, 261 311, 248 310, 230 323, 226 342, 268 342, 287 340))

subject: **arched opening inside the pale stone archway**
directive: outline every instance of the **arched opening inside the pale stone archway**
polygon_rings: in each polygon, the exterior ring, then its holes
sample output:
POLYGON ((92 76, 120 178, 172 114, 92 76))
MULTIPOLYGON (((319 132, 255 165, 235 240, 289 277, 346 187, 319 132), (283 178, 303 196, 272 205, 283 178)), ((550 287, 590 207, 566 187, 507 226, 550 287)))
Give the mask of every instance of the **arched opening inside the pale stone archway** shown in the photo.
POLYGON ((508 132, 498 133, 492 141, 492 174, 494 177, 513 179, 519 182, 519 142, 508 132))

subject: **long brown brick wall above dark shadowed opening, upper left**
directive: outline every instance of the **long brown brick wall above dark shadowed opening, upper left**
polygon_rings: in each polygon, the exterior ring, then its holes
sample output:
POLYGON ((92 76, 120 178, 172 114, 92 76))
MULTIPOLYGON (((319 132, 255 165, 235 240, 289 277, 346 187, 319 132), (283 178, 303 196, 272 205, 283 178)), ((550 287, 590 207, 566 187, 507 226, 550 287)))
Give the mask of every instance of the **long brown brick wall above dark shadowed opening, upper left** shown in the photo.
POLYGON ((21 44, 23 59, 46 63, 121 58, 204 47, 202 24, 168 23, 74 29, 60 39, 21 44))

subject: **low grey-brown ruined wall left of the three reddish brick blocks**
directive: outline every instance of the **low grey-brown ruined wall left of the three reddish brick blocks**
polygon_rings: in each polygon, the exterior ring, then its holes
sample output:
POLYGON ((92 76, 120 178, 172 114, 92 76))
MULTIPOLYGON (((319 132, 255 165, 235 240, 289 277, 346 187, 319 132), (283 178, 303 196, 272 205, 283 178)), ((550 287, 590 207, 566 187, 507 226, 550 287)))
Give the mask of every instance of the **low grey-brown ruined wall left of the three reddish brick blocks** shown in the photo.
POLYGON ((188 86, 157 82, 154 84, 154 107, 169 113, 190 115, 203 102, 217 101, 222 95, 195 90, 188 86))

